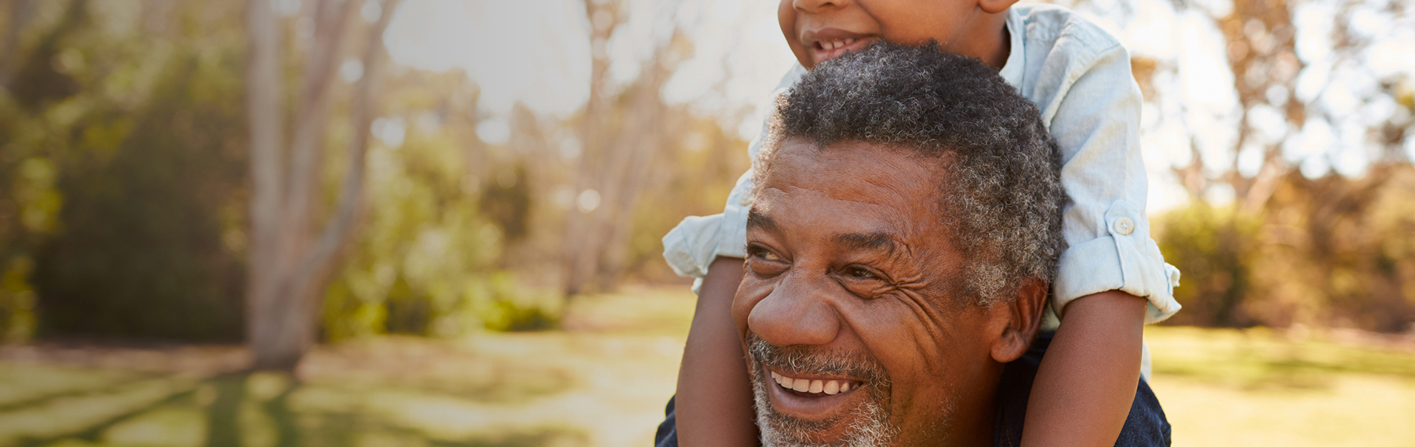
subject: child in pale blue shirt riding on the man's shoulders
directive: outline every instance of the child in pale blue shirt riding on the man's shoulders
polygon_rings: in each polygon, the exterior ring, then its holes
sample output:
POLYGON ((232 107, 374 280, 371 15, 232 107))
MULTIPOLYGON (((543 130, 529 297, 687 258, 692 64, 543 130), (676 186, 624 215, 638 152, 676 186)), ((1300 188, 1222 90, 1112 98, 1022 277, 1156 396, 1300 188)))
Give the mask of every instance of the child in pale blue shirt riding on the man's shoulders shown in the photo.
MULTIPOLYGON (((1142 325, 1167 318, 1179 270, 1165 265, 1145 218, 1139 150, 1140 92, 1119 42, 1080 16, 1017 0, 781 0, 781 31, 799 66, 877 41, 940 42, 981 59, 1037 103, 1061 147, 1063 253, 1047 324, 1054 330, 1032 388, 1023 446, 1116 443, 1148 376, 1142 325), (1054 314, 1053 314, 1054 313, 1054 314), (1060 317, 1060 318, 1057 318, 1060 317), (1060 324, 1060 321, 1065 324, 1060 324)), ((756 157, 758 137, 749 153, 756 157)), ((676 437, 682 446, 754 446, 751 392, 732 300, 743 276, 751 173, 723 214, 688 218, 664 238, 664 256, 699 277, 698 308, 679 369, 676 437)))

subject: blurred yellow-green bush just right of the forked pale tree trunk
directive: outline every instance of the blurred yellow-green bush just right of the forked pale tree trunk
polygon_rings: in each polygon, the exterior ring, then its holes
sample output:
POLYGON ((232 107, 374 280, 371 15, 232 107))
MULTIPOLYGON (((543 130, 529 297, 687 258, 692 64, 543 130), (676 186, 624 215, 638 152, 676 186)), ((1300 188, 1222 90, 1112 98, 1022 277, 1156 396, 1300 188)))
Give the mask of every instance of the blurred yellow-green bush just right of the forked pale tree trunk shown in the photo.
POLYGON ((531 181, 514 160, 484 175, 475 85, 463 72, 408 72, 385 98, 388 113, 372 126, 368 225, 325 297, 327 339, 553 323, 546 300, 498 272, 504 243, 528 236, 531 181))

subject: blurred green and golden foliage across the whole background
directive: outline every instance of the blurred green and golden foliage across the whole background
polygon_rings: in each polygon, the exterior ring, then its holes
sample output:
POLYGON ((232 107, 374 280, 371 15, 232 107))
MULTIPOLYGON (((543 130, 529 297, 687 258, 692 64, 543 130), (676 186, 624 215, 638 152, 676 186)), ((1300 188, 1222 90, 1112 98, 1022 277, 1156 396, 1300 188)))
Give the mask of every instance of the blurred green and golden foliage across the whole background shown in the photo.
MULTIPOLYGON (((248 209, 242 4, 0 4, 0 334, 238 339, 248 209)), ((596 35, 627 27, 631 14, 620 6, 591 7, 618 11, 599 14, 608 21, 596 35)), ((1211 18, 1231 50, 1268 48, 1230 55, 1240 74, 1235 110, 1281 103, 1290 124, 1282 129, 1298 132, 1309 115, 1340 116, 1292 93, 1293 74, 1315 65, 1292 57, 1290 16, 1285 3, 1249 1, 1211 18)), ((290 35, 297 21, 286 17, 290 35)), ((567 240, 589 231, 567 222, 597 228, 599 245, 580 248, 599 259, 586 290, 682 283, 661 260, 659 238, 685 215, 720 212, 749 160, 736 132, 746 109, 708 116, 658 98, 672 61, 693 54, 678 31, 665 30, 638 61, 638 78, 604 76, 607 55, 594 57, 593 113, 516 106, 491 116, 467 74, 392 66, 369 129, 361 232, 325 291, 323 338, 570 324, 560 296, 576 249, 567 240), (608 163, 610 154, 625 158, 608 163), (601 164, 628 174, 601 173, 601 164), (600 199, 584 201, 594 188, 600 199)), ((1370 42, 1332 45, 1347 54, 1370 42)), ((1132 62, 1150 103, 1187 100, 1166 86, 1174 61, 1132 62)), ((335 89, 358 76, 348 72, 335 89)), ((713 88, 726 89, 722 82, 713 88)), ((1176 293, 1186 310, 1172 324, 1411 328, 1415 175, 1391 149, 1409 140, 1415 95, 1405 78, 1373 85, 1371 100, 1395 99, 1390 117, 1370 126, 1365 143, 1384 151, 1367 174, 1303 177, 1279 154, 1285 143, 1247 124, 1232 153, 1261 143, 1248 150, 1262 156, 1257 174, 1203 157, 1176 170, 1193 205, 1155 222, 1166 259, 1184 272, 1176 293), (1231 191, 1232 204, 1203 199, 1215 190, 1231 191)), ((348 108, 334 105, 331 147, 364 132, 342 119, 348 108)), ((330 154, 327 185, 348 166, 344 151, 330 154)), ((334 201, 324 197, 318 212, 334 201)))

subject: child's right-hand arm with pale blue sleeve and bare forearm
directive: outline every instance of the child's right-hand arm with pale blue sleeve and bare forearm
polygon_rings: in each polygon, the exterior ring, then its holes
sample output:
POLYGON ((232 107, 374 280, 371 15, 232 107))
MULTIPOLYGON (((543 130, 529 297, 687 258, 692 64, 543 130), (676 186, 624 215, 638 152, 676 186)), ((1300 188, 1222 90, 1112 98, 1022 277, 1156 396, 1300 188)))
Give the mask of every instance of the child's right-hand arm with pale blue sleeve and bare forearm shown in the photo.
POLYGON ((1142 324, 1180 308, 1172 294, 1179 272, 1165 265, 1145 216, 1143 98, 1129 52, 1078 16, 1067 21, 1077 38, 1041 64, 1065 69, 1037 74, 1032 89, 1050 110, 1073 204, 1053 283, 1051 308, 1063 318, 1033 382, 1026 447, 1114 446, 1135 399, 1142 324))

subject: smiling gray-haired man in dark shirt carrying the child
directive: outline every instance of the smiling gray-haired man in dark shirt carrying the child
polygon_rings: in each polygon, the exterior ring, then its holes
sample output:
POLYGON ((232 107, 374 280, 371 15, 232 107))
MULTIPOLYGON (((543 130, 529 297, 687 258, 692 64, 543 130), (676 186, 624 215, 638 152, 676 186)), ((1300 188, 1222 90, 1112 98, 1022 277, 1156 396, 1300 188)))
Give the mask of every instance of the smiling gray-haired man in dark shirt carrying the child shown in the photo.
MULTIPOLYGON (((1036 108, 974 59, 876 44, 801 79, 757 168, 733 318, 763 443, 1016 446, 1064 248, 1036 108)), ((1167 444, 1135 414, 1121 444, 1167 444)))

